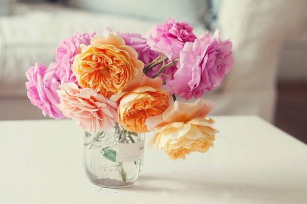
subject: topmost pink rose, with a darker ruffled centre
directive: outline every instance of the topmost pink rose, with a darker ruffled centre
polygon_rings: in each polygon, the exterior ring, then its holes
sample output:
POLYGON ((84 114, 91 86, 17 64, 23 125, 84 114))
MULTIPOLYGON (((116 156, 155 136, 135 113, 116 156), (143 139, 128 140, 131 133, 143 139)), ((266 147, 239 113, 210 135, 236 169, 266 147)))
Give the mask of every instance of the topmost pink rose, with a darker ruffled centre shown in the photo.
POLYGON ((171 17, 162 25, 156 25, 146 34, 152 50, 165 54, 170 61, 179 58, 186 42, 194 42, 193 27, 187 22, 177 22, 171 17))

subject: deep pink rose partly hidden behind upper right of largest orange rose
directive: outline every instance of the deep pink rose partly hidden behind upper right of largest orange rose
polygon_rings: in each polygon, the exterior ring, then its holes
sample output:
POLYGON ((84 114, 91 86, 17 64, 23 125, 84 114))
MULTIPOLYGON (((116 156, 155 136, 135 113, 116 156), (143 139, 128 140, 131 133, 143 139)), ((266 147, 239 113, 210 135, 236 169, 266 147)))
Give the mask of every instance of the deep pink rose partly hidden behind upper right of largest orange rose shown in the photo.
MULTIPOLYGON (((110 28, 106 28, 104 33, 112 32, 110 28)), ((125 44, 134 48, 138 53, 138 59, 141 60, 145 67, 153 60, 156 59, 159 55, 157 52, 150 49, 150 46, 147 44, 146 39, 137 33, 121 33, 116 31, 116 33, 122 37, 125 41, 125 44)))

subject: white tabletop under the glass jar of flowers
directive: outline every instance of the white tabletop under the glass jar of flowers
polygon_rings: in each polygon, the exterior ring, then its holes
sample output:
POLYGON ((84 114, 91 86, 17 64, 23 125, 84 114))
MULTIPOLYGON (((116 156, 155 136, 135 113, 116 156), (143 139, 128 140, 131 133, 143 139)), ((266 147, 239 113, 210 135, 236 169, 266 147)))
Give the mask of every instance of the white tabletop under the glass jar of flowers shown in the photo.
POLYGON ((87 180, 74 121, 0 121, 0 203, 307 203, 305 144, 256 116, 212 118, 214 148, 177 162, 147 148, 124 189, 87 180))

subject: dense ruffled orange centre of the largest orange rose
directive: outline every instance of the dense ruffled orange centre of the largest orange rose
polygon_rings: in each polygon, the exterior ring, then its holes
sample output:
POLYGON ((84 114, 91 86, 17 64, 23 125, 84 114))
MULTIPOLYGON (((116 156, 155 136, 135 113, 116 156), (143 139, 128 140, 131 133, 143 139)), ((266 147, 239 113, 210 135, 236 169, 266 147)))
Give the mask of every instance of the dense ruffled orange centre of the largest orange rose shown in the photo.
POLYGON ((96 53, 87 53, 80 63, 80 85, 90 87, 109 98, 120 93, 131 78, 130 60, 124 52, 114 56, 107 49, 95 50, 96 53))

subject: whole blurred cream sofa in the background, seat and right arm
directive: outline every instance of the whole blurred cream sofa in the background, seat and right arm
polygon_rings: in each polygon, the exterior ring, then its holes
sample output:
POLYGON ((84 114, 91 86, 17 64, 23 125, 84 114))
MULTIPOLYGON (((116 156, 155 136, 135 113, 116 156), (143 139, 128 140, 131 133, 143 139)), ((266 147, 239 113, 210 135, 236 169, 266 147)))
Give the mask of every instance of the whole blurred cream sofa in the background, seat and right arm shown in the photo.
MULTIPOLYGON (((272 121, 278 54, 283 42, 303 28, 305 4, 304 0, 221 2, 218 25, 223 38, 233 42, 234 66, 220 87, 204 95, 217 104, 212 114, 256 114, 272 121)), ((35 62, 48 66, 54 61, 62 38, 74 31, 99 34, 105 27, 144 35, 152 25, 161 23, 160 19, 49 4, 18 4, 15 13, 0 17, 0 119, 43 118, 27 99, 25 72, 35 62)), ((192 24, 196 35, 206 31, 204 25, 192 24)))

